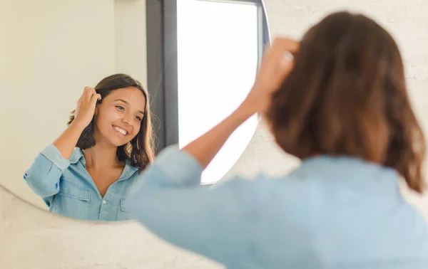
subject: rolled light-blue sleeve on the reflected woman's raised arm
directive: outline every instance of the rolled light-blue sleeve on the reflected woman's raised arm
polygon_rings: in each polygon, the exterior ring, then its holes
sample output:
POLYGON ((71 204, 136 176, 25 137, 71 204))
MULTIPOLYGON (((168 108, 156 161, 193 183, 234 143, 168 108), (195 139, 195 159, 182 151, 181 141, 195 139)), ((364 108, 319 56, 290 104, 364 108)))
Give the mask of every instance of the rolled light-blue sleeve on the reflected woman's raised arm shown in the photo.
POLYGON ((63 159, 61 152, 50 144, 34 159, 25 172, 24 180, 35 194, 49 197, 58 193, 59 179, 70 166, 70 160, 63 159))

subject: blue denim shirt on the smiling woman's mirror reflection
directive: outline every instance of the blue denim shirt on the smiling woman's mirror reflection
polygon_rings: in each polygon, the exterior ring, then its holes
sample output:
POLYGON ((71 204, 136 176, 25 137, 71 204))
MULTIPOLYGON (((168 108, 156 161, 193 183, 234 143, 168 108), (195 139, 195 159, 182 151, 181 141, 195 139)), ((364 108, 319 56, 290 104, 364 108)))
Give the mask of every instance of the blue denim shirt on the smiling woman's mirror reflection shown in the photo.
POLYGON ((125 194, 137 176, 138 168, 127 162, 118 181, 101 197, 86 170, 81 149, 74 149, 70 159, 63 159, 50 144, 36 157, 24 179, 51 212, 86 221, 126 221, 130 216, 125 194))

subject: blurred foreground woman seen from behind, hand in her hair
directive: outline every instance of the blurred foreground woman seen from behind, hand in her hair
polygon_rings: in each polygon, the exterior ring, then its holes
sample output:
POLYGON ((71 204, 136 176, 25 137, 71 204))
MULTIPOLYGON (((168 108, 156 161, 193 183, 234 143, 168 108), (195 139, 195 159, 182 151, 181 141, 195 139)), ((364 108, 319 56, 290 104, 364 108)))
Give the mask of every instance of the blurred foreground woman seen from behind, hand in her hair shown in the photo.
POLYGON ((340 12, 300 44, 277 38, 242 105, 182 150, 165 149, 127 202, 161 238, 228 268, 428 268, 427 223, 397 185, 422 192, 424 152, 396 43, 340 12), (198 187, 256 112, 300 167, 198 187))

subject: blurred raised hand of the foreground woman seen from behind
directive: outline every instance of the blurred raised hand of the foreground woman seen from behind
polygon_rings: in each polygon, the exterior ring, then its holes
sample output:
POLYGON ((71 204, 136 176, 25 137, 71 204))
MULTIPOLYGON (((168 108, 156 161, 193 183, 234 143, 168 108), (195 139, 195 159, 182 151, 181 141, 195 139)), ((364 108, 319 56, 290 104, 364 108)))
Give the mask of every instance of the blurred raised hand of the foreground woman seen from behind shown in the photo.
POLYGON ((265 112, 270 105, 272 93, 275 93, 287 78, 294 64, 293 55, 299 49, 299 43, 288 38, 275 38, 263 56, 253 88, 241 107, 253 113, 265 112))

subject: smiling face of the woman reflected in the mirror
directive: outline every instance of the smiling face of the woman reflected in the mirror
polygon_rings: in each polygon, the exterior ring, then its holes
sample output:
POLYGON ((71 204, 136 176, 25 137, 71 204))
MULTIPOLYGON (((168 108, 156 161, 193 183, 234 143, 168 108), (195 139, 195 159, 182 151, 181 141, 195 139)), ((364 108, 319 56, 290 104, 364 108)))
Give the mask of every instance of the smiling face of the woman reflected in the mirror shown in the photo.
POLYGON ((135 87, 113 90, 96 108, 94 137, 118 147, 131 141, 141 128, 146 97, 135 87))

